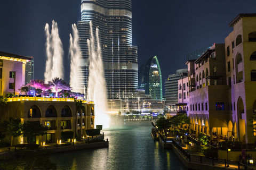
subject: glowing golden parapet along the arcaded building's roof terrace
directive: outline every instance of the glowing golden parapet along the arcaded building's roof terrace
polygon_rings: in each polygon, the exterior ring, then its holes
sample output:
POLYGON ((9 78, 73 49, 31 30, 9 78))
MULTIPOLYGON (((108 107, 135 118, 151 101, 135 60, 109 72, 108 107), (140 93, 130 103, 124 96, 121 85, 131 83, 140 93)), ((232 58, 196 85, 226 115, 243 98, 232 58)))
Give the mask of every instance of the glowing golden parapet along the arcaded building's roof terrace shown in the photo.
MULTIPOLYGON (((8 101, 75 101, 74 98, 52 98, 52 97, 12 97, 8 101)), ((82 100, 83 103, 93 104, 93 101, 82 100)))

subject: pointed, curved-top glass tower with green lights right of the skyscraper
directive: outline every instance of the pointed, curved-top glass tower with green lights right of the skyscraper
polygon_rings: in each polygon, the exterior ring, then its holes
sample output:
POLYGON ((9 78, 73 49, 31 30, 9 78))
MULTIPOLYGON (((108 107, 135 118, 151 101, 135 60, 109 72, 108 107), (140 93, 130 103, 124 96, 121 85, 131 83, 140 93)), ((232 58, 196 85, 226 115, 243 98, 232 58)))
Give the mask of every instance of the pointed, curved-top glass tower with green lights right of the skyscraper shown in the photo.
POLYGON ((153 100, 163 99, 162 73, 156 56, 140 66, 138 83, 145 95, 150 95, 153 100))

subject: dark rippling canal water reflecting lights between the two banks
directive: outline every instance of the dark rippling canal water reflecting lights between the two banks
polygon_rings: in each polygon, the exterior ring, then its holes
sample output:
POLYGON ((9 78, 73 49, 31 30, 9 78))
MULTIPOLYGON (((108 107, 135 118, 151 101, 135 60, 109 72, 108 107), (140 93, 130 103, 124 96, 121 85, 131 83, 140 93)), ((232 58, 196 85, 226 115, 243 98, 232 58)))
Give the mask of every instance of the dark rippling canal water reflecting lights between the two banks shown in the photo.
POLYGON ((151 122, 126 122, 102 130, 109 148, 62 152, 52 156, 58 169, 187 170, 172 150, 150 136, 151 122))

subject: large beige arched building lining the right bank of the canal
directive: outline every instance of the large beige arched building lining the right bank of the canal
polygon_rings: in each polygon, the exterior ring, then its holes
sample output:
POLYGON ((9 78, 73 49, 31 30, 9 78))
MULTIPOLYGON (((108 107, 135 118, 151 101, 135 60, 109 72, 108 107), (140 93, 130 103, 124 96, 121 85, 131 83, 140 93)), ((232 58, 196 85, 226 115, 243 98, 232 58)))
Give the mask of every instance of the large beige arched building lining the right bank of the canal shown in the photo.
POLYGON ((216 132, 229 140, 254 143, 249 119, 256 112, 255 16, 239 14, 229 24, 234 31, 225 44, 214 44, 197 60, 186 63, 187 109, 195 134, 210 134, 212 139, 216 132))

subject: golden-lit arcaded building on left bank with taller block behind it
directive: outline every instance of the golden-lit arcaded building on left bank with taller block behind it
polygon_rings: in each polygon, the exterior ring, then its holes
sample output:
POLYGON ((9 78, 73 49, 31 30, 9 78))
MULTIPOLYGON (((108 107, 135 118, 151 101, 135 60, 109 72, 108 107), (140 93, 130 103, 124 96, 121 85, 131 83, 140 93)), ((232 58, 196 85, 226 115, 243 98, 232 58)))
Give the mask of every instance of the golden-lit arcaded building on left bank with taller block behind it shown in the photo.
MULTIPOLYGON (((25 64, 30 57, 18 56, 0 52, 0 95, 8 92, 19 95, 25 85, 25 64)), ((8 98, 7 105, 0 107, 0 123, 9 117, 20 118, 22 123, 36 121, 47 126, 47 134, 31 138, 30 143, 42 145, 46 143, 60 143, 61 132, 73 131, 81 138, 86 137, 86 130, 94 128, 94 104, 83 101, 85 109, 76 108, 73 98, 40 98, 13 97, 8 98)), ((73 140, 71 139, 71 140, 73 140)), ((10 138, 4 139, 10 142, 10 138)), ((17 137, 13 145, 27 143, 27 138, 17 137)))

